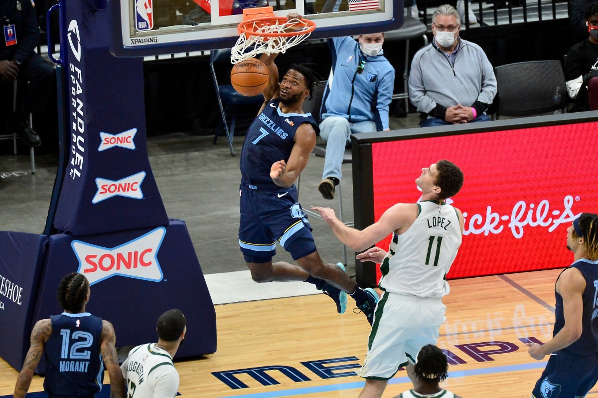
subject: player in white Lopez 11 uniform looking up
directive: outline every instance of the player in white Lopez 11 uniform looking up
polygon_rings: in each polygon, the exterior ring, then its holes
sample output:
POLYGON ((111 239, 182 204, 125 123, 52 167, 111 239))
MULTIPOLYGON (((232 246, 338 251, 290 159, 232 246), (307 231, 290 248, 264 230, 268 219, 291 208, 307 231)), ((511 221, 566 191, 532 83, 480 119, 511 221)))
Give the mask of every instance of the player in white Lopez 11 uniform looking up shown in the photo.
POLYGON ((419 203, 397 203, 364 230, 347 227, 330 208, 312 207, 332 228, 338 240, 355 251, 365 250, 392 233, 389 253, 373 247, 357 258, 382 263, 380 288, 361 376, 366 379, 360 398, 379 398, 399 367, 413 378, 417 353, 436 344, 444 323, 442 297, 449 294, 445 277, 457 256, 463 235, 463 215, 444 200, 463 185, 463 172, 448 160, 422 169, 416 178, 422 189, 419 203))

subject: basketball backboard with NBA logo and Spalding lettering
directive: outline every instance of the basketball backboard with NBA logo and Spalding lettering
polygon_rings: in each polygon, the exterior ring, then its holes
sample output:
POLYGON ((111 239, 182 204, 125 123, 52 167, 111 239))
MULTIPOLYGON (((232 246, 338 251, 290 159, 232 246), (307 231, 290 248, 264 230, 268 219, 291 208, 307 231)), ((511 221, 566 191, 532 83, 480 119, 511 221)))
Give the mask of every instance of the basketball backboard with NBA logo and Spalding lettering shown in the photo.
POLYGON ((271 6, 316 23, 311 39, 386 32, 403 23, 402 0, 109 0, 111 52, 138 57, 232 47, 243 8, 271 6))

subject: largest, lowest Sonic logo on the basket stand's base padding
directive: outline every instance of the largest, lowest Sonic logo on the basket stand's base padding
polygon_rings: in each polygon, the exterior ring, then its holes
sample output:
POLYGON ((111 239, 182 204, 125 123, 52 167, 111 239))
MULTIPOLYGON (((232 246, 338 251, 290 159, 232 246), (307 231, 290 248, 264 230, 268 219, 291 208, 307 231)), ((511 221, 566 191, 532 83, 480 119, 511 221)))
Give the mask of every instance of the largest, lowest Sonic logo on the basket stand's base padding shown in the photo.
POLYGON ((77 272, 85 275, 90 285, 114 275, 160 282, 163 274, 157 255, 164 235, 166 228, 158 227, 114 248, 73 241, 71 247, 79 260, 77 272))

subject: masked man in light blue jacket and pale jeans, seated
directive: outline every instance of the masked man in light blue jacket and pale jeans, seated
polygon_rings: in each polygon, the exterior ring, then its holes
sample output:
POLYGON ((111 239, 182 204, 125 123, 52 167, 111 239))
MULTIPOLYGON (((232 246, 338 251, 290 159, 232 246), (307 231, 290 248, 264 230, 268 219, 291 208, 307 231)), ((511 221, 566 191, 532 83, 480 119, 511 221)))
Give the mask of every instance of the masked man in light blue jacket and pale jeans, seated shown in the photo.
POLYGON ((395 69, 383 55, 383 42, 383 33, 359 35, 359 42, 351 37, 328 40, 334 79, 320 123, 320 136, 327 142, 323 180, 318 185, 324 199, 334 199, 350 135, 390 130, 388 107, 395 69))

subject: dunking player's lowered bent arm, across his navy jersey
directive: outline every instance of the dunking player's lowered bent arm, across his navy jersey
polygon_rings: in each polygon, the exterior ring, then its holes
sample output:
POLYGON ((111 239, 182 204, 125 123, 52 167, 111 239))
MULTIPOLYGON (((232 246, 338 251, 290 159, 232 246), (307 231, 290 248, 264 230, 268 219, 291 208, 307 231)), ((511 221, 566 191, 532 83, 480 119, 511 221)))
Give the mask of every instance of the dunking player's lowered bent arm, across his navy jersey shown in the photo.
POLYGON ((307 166, 309 155, 316 146, 316 132, 311 124, 303 123, 295 132, 295 144, 289 161, 279 160, 270 169, 270 178, 279 187, 290 188, 307 166))

